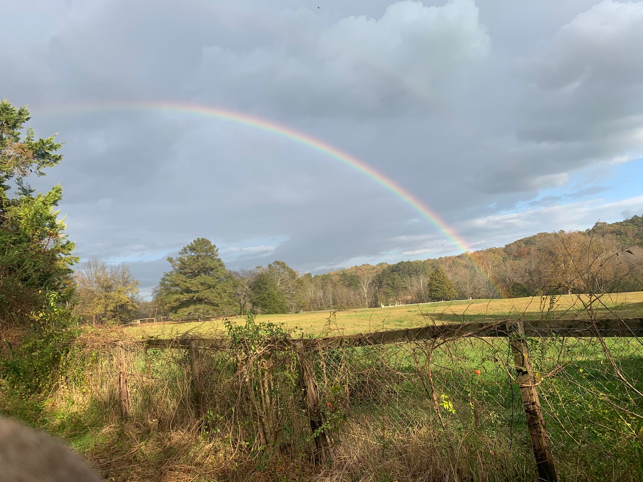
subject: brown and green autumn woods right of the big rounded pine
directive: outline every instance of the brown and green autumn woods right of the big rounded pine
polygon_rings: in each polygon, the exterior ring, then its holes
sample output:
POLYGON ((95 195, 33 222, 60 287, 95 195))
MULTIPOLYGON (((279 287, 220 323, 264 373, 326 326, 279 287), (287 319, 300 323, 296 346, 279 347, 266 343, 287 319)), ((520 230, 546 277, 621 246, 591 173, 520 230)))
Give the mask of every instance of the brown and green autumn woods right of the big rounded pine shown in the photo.
POLYGON ((633 217, 617 224, 616 228, 611 224, 599 224, 592 231, 593 235, 589 231, 539 233, 502 248, 437 260, 354 266, 314 276, 310 273, 300 276, 285 262, 275 261, 265 268, 235 273, 233 311, 277 313, 455 298, 516 298, 583 291, 588 289, 590 281, 590 285, 600 290, 643 289, 643 256, 639 253, 642 249, 629 245, 633 254, 616 256, 617 251, 626 246, 622 240, 631 241, 637 237, 639 224, 643 222, 639 217, 633 217), (565 243, 561 244, 561 240, 565 243), (602 251, 606 257, 595 258, 589 267, 581 266, 581 254, 587 258, 590 251, 594 256, 602 251), (570 265, 570 261, 575 265, 570 265), (579 269, 595 272, 599 265, 600 276, 592 280, 585 277, 586 283, 582 278, 572 276, 573 271, 579 269), (580 281, 585 285, 581 287, 580 281))

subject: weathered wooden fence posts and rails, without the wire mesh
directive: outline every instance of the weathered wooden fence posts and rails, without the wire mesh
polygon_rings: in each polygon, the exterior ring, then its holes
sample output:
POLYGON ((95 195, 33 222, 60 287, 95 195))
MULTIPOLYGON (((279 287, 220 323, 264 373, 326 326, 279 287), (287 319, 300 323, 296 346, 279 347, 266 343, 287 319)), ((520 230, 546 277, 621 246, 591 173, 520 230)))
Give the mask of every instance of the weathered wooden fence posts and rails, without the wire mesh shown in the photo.
MULTIPOLYGON (((554 458, 543 419, 537 383, 529 357, 527 337, 635 337, 643 338, 643 318, 631 319, 600 319, 588 321, 582 319, 556 319, 556 320, 496 320, 482 319, 471 323, 448 323, 443 325, 429 325, 419 328, 403 328, 373 332, 368 334, 355 334, 334 337, 311 339, 274 339, 269 340, 273 350, 293 350, 296 353, 300 386, 307 403, 307 413, 310 419, 317 454, 322 458, 327 451, 327 440, 320 436, 321 419, 318 411, 318 397, 316 383, 307 366, 305 352, 311 350, 328 350, 334 348, 350 348, 358 346, 372 346, 377 344, 408 343, 429 339, 458 339, 462 337, 509 337, 511 352, 514 355, 514 382, 520 387, 521 400, 525 411, 529 434, 536 459, 539 479, 544 481, 557 481, 554 458)), ((194 398, 199 416, 206 413, 204 401, 204 379, 201 364, 200 350, 224 350, 231 348, 230 339, 203 339, 199 337, 184 336, 174 339, 147 339, 145 348, 179 349, 188 350, 192 379, 194 380, 194 398)), ((128 393, 127 370, 125 367, 125 348, 120 347, 118 355, 119 376, 118 393, 122 407, 122 414, 127 417, 128 393)))

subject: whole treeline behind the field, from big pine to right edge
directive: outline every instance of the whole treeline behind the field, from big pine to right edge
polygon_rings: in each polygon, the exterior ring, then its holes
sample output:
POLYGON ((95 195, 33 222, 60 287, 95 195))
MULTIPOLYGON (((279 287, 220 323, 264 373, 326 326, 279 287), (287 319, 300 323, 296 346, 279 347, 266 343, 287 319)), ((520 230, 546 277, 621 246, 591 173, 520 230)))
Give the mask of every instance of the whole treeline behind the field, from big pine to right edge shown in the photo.
POLYGON ((597 223, 584 232, 539 233, 475 253, 300 274, 285 262, 228 271, 199 238, 168 258, 141 317, 294 313, 450 299, 643 290, 643 218, 597 223))

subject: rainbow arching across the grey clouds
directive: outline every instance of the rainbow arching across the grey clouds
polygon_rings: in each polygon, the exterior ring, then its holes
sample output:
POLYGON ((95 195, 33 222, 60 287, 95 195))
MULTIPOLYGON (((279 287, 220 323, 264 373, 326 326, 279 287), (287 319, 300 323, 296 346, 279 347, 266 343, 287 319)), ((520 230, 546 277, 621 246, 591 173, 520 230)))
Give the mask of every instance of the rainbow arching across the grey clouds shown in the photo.
MULTIPOLYGON (((371 166, 369 166, 364 161, 361 161, 357 157, 351 156, 347 152, 332 146, 329 143, 316 139, 309 134, 305 134, 298 130, 291 129, 290 127, 285 127, 279 123, 269 121, 257 116, 250 116, 248 114, 243 114, 241 112, 231 111, 229 109, 221 109, 219 107, 210 107, 199 104, 192 103, 180 103, 180 102, 111 102, 104 104, 78 104, 78 105, 66 105, 64 107, 52 107, 52 106, 42 106, 37 111, 41 112, 92 112, 92 111, 127 111, 127 110, 143 110, 143 111, 168 111, 168 112, 179 112, 184 114, 196 114, 199 116, 221 119, 226 121, 231 121, 240 125, 251 127, 252 129, 262 130, 268 132, 269 134, 274 134, 280 138, 288 139, 294 143, 303 145, 304 147, 316 150, 325 156, 331 157, 336 161, 339 161, 345 166, 348 166, 350 169, 358 172, 359 174, 368 177, 374 181, 374 183, 379 184, 388 192, 392 193, 395 197, 400 199, 404 204, 407 204, 412 208, 413 211, 417 212, 422 218, 428 220, 430 224, 435 226, 444 237, 446 237, 449 242, 451 242, 457 249, 461 250, 463 253, 466 253, 467 256, 473 261, 476 266, 476 269, 480 269, 478 262, 471 256, 471 249, 467 247, 466 243, 458 234, 450 228, 444 220, 434 211, 430 210, 426 204, 423 204, 422 201, 413 196, 412 193, 405 190, 398 183, 389 179, 385 175, 381 174, 371 166)), ((491 281, 491 280, 489 280, 491 281)), ((491 281, 493 284, 493 281, 491 281)))

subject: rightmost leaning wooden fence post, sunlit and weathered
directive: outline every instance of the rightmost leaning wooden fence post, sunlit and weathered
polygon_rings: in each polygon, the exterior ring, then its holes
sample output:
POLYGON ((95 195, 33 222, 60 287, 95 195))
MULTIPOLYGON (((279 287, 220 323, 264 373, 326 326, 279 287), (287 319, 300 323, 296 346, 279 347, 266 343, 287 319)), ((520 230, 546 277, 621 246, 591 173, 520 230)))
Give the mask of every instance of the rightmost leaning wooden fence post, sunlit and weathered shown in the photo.
POLYGON ((549 445, 549 437, 545 430, 545 419, 540 406, 538 391, 536 390, 536 379, 529 359, 529 349, 525 342, 525 326, 522 321, 507 321, 507 333, 509 344, 514 354, 516 364, 516 379, 520 386, 520 397, 522 398, 527 426, 536 457, 536 468, 538 478, 547 482, 557 482, 558 476, 554 468, 554 456, 549 445))

